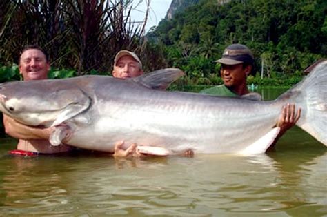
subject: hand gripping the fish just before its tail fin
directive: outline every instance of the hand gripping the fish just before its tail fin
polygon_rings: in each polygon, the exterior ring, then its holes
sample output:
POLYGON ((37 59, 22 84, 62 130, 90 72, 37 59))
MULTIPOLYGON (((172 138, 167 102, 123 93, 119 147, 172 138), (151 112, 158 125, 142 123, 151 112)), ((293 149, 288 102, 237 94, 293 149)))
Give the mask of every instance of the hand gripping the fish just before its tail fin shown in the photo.
POLYGON ((283 110, 281 111, 281 116, 279 116, 279 120, 276 125, 277 127, 281 128, 279 136, 289 130, 290 127, 293 127, 300 117, 301 108, 295 110, 294 103, 287 103, 286 105, 284 105, 283 110))

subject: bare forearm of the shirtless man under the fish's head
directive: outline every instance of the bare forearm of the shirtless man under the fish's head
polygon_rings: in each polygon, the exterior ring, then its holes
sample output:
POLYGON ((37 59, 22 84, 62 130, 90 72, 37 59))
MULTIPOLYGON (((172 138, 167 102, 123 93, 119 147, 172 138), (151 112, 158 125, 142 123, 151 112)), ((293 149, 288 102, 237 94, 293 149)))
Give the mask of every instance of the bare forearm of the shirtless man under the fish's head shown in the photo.
POLYGON ((41 127, 30 127, 23 125, 3 114, 3 125, 6 130, 6 134, 19 139, 47 139, 49 138, 52 129, 41 127))

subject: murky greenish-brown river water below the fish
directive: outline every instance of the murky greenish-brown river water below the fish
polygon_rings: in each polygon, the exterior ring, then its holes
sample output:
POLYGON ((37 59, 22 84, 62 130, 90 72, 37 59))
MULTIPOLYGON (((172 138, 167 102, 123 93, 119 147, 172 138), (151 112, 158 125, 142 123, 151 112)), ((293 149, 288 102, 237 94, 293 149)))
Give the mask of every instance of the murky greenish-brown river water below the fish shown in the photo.
POLYGON ((298 127, 252 157, 9 156, 15 143, 0 139, 0 216, 327 216, 327 149, 298 127))

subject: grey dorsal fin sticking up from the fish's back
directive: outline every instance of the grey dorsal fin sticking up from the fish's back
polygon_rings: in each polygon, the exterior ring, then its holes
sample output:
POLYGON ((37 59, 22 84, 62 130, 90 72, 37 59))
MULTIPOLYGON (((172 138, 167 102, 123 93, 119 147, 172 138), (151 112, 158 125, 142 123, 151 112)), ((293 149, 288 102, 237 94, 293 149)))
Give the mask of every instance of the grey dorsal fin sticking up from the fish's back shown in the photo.
POLYGON ((137 76, 132 80, 154 90, 166 90, 172 82, 183 75, 184 72, 177 68, 166 68, 137 76))

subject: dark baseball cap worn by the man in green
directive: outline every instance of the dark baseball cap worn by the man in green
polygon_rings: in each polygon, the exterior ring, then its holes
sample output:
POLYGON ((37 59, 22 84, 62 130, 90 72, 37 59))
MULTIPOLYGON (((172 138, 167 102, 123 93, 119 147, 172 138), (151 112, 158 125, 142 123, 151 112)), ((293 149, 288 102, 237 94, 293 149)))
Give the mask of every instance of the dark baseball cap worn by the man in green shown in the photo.
POLYGON ((253 64, 254 58, 253 54, 246 45, 241 45, 239 43, 235 43, 229 45, 223 53, 221 59, 215 61, 217 63, 222 63, 225 65, 237 65, 239 63, 249 63, 253 64))

